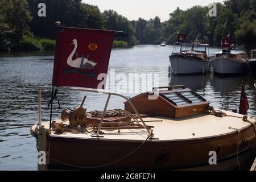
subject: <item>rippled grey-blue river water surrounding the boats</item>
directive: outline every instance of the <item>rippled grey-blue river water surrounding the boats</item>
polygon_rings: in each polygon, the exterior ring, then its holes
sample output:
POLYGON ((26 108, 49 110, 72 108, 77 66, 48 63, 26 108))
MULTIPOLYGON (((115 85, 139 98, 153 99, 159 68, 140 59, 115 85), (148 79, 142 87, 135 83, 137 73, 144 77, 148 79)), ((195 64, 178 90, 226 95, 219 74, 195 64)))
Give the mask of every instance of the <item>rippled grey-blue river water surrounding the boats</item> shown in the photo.
MULTIPOLYGON (((217 49, 211 48, 213 54, 217 49)), ((251 76, 218 77, 212 73, 204 76, 170 76, 169 59, 172 46, 137 46, 129 49, 114 49, 110 58, 111 72, 158 73, 159 86, 185 84, 205 97, 211 105, 224 110, 238 109, 241 81, 246 83, 249 98, 249 115, 256 116, 256 91, 251 76)), ((19 53, 0 55, 0 170, 36 170, 37 151, 35 139, 30 135, 30 127, 38 119, 38 87, 50 86, 53 70, 53 53, 19 53)), ((110 76, 112 77, 112 76, 110 76)), ((123 80, 124 81, 124 80, 123 80)), ((118 82, 117 82, 118 83, 118 82)), ((109 84, 113 90, 115 83, 109 84)), ((42 93, 42 119, 48 121, 47 104, 50 90, 42 93)), ((142 90, 144 91, 144 90, 142 90)), ((151 91, 151 90, 148 90, 151 91)), ((106 96, 86 93, 85 107, 102 110, 106 96)), ((124 94, 135 96, 137 93, 124 94)), ((59 93, 61 109, 80 104, 85 93, 59 93)), ((108 109, 123 109, 123 100, 113 97, 108 109)), ((61 110, 54 104, 54 117, 61 110)), ((64 152, 64 151, 63 151, 64 152)))

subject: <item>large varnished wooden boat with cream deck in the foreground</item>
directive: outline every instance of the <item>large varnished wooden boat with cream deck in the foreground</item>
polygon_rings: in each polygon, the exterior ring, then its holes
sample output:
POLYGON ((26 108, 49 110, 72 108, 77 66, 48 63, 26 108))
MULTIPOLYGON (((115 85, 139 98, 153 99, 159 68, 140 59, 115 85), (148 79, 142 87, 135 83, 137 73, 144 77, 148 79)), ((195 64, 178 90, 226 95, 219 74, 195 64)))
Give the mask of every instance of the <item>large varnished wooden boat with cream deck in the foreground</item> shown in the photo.
MULTIPOLYGON (((98 92, 89 89, 58 88, 98 92)), ((61 119, 31 127, 47 169, 246 169, 255 158, 255 119, 217 111, 181 86, 155 88, 129 100, 124 110, 86 112, 84 101, 61 119), (210 163, 216 154, 216 163, 210 163)), ((40 91, 39 91, 40 96, 40 91)), ((40 97, 39 97, 40 110, 40 97)))

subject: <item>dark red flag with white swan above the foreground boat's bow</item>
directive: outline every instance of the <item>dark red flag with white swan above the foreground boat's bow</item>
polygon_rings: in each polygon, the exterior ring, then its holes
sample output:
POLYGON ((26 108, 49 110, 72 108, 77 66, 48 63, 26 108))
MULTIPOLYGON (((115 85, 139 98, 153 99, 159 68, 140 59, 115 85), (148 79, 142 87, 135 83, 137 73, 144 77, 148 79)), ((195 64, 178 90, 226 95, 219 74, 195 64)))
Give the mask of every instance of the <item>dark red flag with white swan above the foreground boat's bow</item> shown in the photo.
POLYGON ((98 75, 108 73, 115 31, 58 28, 52 85, 97 89, 98 75))

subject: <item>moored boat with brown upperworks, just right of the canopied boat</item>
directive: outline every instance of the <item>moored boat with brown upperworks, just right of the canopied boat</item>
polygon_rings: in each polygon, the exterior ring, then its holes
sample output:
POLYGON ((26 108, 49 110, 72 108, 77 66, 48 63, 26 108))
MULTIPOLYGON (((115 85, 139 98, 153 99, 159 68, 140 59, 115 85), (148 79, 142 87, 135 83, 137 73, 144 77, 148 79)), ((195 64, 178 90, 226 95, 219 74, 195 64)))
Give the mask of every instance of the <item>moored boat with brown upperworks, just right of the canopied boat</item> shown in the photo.
POLYGON ((248 56, 245 51, 234 49, 232 40, 222 40, 221 50, 210 60, 213 72, 221 75, 247 73, 248 56))

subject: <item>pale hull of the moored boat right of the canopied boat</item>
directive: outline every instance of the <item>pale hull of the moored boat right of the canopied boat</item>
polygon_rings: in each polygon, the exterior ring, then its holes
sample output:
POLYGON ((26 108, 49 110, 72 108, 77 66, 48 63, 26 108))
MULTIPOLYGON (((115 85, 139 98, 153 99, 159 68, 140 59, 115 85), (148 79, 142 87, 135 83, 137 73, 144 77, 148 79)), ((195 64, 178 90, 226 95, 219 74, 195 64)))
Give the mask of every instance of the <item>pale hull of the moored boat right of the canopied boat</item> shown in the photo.
POLYGON ((246 61, 220 57, 212 59, 210 64, 213 67, 213 72, 220 75, 246 74, 248 72, 246 61))

